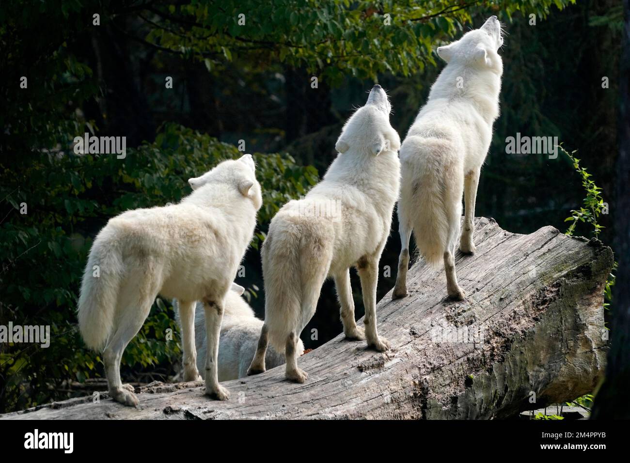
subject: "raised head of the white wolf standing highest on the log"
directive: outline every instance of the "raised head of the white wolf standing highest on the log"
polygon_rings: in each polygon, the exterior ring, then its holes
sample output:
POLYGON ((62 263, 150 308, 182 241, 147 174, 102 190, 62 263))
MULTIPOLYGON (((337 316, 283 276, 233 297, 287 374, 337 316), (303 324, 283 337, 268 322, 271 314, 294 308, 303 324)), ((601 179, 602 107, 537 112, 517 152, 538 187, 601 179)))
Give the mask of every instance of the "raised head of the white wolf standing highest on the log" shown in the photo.
POLYGON ((437 54, 447 63, 478 66, 501 74, 503 63, 497 53, 503 45, 503 31, 496 16, 491 16, 479 29, 471 30, 457 42, 438 47, 437 54))

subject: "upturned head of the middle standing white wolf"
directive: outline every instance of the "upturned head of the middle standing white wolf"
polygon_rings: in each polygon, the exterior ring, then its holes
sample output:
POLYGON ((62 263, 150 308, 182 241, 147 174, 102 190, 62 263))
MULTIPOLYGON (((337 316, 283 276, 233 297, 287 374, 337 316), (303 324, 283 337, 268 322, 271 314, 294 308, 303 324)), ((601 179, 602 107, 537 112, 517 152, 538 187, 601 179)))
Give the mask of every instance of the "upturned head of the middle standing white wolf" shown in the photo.
POLYGON ((365 106, 358 108, 343 126, 335 149, 343 154, 353 148, 374 156, 383 151, 398 151, 400 137, 389 123, 391 109, 387 93, 380 85, 375 85, 365 106))

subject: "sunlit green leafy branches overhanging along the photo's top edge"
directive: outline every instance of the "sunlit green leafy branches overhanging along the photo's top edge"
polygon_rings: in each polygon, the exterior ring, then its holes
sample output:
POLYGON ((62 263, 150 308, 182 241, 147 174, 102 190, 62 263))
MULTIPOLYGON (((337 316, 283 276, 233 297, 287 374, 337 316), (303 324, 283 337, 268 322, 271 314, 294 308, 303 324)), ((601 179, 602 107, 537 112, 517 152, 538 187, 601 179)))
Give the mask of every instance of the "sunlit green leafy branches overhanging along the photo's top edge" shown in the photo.
POLYGON ((208 69, 242 58, 280 62, 306 67, 334 86, 347 76, 409 76, 435 65, 435 43, 461 32, 481 8, 507 18, 517 11, 544 18, 551 6, 561 9, 570 3, 575 0, 490 0, 483 5, 474 0, 229 0, 217 8, 200 2, 147 8, 159 20, 143 18, 149 29, 143 40, 195 56, 208 69))

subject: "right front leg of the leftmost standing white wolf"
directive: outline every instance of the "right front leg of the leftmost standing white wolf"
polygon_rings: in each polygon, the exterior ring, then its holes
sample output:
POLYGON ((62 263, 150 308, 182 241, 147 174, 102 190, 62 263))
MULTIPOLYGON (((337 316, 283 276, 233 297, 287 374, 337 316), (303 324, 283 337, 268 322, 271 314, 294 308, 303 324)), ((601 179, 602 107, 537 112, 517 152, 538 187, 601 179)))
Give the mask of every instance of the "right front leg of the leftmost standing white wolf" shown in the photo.
POLYGON ((227 400, 229 391, 219 384, 219 336, 221 336, 221 321, 223 319, 223 300, 203 300, 205 312, 205 331, 207 335, 207 349, 205 353, 205 393, 219 400, 227 400))

